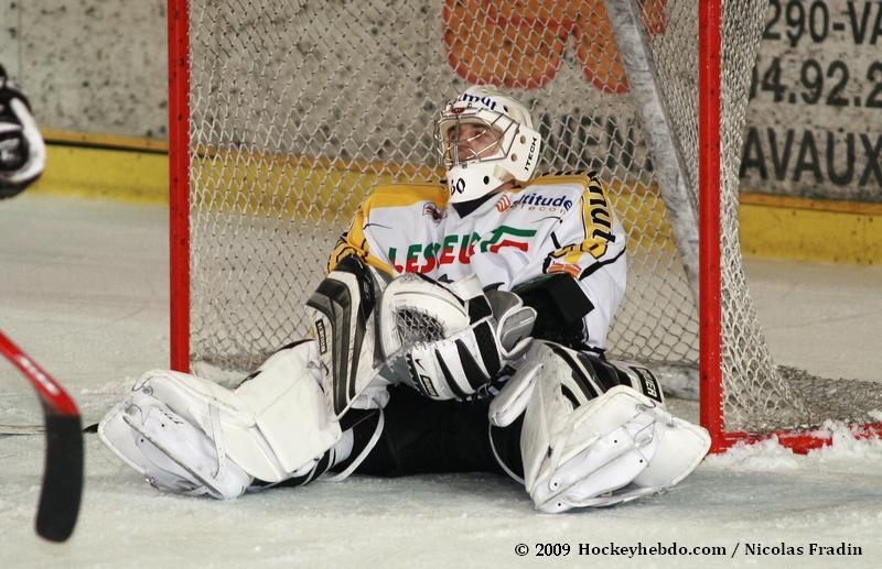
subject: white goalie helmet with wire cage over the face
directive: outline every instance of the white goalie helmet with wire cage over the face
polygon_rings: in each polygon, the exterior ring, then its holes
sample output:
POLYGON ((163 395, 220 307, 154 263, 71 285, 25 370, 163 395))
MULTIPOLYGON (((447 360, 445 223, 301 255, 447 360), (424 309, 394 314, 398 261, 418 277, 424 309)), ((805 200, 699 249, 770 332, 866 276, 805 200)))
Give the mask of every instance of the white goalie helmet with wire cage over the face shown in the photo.
POLYGON ((512 179, 528 182, 542 147, 527 107, 487 86, 470 87, 449 102, 434 138, 452 204, 483 197, 512 179))

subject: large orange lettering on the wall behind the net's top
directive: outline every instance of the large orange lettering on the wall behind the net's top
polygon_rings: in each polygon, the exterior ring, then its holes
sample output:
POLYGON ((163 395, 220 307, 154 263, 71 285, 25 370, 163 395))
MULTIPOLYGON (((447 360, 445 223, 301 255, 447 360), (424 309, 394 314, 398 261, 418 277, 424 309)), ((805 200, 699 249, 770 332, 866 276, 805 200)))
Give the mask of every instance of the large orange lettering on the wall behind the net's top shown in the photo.
MULTIPOLYGON (((649 35, 665 32, 665 2, 643 4, 649 35)), ((585 79, 605 92, 627 91, 601 0, 445 0, 443 21, 448 62, 471 84, 542 87, 557 75, 572 37, 585 79)))

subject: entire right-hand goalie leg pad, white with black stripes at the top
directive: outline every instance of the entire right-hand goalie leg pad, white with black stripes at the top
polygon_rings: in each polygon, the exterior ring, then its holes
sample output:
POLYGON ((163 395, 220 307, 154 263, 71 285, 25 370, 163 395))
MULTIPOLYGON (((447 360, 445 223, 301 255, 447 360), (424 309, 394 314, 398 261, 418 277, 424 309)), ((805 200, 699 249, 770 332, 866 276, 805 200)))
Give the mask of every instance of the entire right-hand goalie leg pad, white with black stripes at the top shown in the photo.
POLYGON ((524 415, 524 485, 557 513, 663 492, 710 448, 708 433, 673 417, 646 368, 535 342, 490 407, 506 427, 524 415))

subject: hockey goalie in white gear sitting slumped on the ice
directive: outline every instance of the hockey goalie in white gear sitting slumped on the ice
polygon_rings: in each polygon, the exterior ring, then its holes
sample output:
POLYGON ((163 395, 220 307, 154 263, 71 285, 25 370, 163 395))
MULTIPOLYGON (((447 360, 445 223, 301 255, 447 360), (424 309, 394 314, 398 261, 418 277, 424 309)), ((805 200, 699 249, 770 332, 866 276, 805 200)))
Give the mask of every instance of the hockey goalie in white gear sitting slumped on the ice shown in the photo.
POLYGON ((444 184, 362 205, 304 309, 310 339, 229 390, 151 371, 101 440, 160 490, 232 499, 326 473, 494 471, 536 507, 666 491, 710 439, 646 368, 604 357, 625 234, 593 174, 535 175, 512 97, 471 87, 441 111, 444 184))

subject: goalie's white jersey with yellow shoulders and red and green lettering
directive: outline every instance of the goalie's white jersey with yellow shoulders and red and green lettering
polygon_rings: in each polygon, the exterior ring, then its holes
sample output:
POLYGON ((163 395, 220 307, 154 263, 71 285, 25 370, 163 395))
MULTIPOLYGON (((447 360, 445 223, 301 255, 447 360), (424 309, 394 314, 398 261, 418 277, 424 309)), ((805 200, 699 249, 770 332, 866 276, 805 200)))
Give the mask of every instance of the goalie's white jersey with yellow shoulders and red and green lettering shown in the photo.
POLYGON ((475 274, 483 286, 505 291, 567 273, 594 306, 584 318, 585 343, 605 348, 625 291, 625 233, 596 176, 541 176, 465 216, 448 197, 441 184, 378 187, 334 249, 330 269, 356 254, 392 276, 419 272, 450 283, 475 274))

